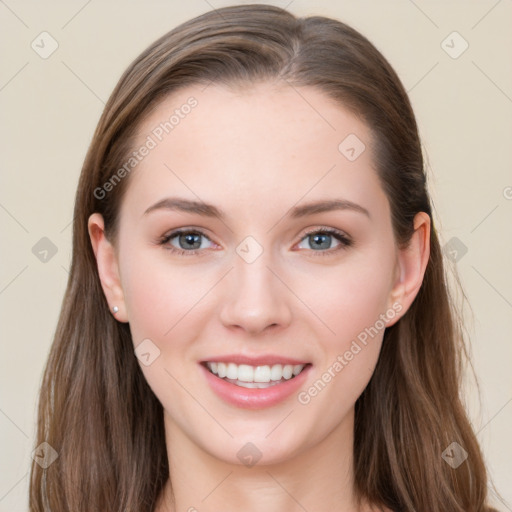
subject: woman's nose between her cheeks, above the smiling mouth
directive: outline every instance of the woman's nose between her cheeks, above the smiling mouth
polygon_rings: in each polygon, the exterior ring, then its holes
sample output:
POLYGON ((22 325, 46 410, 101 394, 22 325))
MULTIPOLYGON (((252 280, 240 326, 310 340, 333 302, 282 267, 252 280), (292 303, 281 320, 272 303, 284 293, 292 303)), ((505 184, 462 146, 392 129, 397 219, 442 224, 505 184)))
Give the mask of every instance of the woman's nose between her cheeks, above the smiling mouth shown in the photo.
POLYGON ((266 252, 252 263, 234 255, 234 268, 227 277, 220 319, 229 329, 256 335, 290 325, 292 294, 276 277, 275 265, 266 252))

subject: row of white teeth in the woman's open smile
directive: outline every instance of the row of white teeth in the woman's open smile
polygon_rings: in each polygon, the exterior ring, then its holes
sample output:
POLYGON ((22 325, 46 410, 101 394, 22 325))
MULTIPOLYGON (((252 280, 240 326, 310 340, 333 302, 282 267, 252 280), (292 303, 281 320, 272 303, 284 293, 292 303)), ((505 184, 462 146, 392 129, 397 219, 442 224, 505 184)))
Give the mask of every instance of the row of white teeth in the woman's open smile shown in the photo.
POLYGON ((248 364, 237 365, 235 363, 212 363, 207 362, 209 370, 220 378, 236 380, 243 387, 267 387, 258 386, 261 383, 277 383, 281 380, 289 380, 298 375, 306 365, 304 364, 274 364, 273 366, 250 366, 248 364), (245 385, 248 383, 249 385, 245 385), (250 385, 251 383, 255 384, 250 385))

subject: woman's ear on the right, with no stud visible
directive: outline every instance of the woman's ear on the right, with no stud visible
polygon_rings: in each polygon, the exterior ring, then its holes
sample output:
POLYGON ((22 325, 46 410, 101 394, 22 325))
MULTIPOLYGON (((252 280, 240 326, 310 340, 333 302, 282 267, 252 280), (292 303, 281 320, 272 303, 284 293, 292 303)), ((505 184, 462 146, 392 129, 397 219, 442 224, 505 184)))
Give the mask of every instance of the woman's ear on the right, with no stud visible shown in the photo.
POLYGON ((386 327, 402 317, 418 294, 430 256, 430 217, 418 212, 414 217, 414 233, 407 247, 398 249, 395 282, 390 293, 389 306, 398 312, 386 327), (400 307, 401 306, 401 307, 400 307))

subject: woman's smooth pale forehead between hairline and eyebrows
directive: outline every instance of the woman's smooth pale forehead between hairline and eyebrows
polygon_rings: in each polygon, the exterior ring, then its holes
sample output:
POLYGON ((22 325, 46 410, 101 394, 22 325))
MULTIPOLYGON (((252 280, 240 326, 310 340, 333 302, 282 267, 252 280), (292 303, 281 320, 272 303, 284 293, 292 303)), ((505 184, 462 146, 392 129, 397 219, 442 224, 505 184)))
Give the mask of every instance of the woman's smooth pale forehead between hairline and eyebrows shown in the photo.
POLYGON ((382 196, 369 128, 312 87, 181 89, 140 125, 136 149, 143 145, 151 149, 124 199, 141 214, 165 195, 252 211, 336 192, 355 201, 382 196))

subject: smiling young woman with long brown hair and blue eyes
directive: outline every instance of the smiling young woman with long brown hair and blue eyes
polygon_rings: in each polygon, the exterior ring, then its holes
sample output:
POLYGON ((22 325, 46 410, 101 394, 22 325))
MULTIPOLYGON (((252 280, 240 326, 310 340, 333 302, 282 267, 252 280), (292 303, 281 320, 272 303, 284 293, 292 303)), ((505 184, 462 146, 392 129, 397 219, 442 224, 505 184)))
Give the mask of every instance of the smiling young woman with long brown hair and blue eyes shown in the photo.
POLYGON ((264 5, 184 23, 82 169, 31 511, 491 510, 445 282, 366 38, 264 5))

